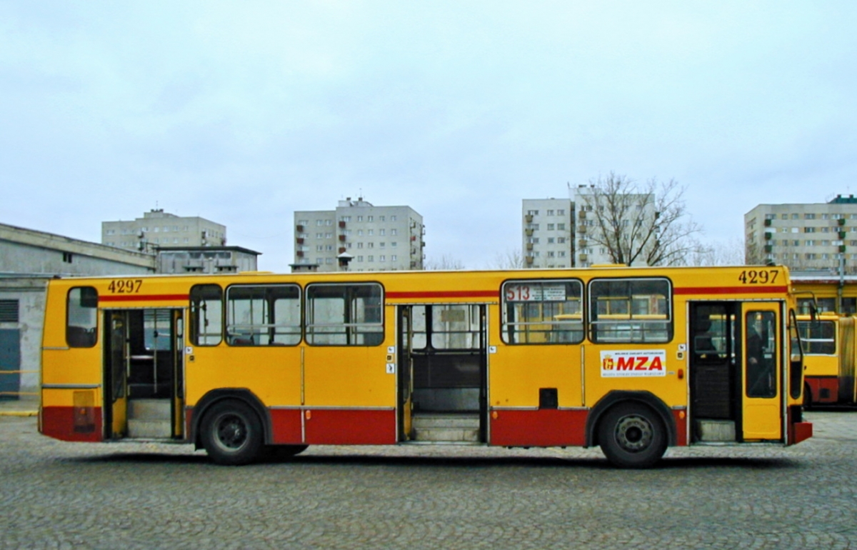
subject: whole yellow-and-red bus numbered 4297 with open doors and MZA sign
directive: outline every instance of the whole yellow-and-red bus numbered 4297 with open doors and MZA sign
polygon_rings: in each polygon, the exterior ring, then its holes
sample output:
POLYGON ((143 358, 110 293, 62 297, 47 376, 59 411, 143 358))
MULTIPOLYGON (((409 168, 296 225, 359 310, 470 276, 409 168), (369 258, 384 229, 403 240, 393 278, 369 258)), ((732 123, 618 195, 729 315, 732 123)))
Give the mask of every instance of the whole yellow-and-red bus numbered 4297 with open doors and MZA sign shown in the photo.
POLYGON ((783 267, 57 278, 39 429, 216 463, 307 445, 792 445, 783 267))

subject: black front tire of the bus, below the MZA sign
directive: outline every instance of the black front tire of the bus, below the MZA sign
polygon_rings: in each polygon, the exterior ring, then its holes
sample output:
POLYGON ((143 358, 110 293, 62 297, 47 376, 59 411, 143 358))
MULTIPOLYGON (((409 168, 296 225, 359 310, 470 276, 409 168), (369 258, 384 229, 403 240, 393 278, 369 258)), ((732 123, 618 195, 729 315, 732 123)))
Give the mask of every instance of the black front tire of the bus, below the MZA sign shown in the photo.
POLYGON ((667 450, 667 430, 649 407, 618 404, 599 422, 598 444, 614 466, 650 468, 667 450))

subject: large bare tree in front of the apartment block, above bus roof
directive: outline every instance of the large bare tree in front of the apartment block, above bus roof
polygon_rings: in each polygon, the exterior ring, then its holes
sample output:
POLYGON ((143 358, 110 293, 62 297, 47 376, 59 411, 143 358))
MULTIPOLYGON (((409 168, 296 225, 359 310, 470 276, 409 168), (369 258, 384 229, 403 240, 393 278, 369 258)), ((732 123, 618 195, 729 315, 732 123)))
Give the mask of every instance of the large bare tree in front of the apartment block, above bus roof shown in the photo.
POLYGON ((675 180, 638 184, 614 172, 590 180, 578 194, 585 216, 594 221, 587 238, 617 264, 685 264, 698 246, 692 237, 701 228, 687 217, 684 192, 675 180))

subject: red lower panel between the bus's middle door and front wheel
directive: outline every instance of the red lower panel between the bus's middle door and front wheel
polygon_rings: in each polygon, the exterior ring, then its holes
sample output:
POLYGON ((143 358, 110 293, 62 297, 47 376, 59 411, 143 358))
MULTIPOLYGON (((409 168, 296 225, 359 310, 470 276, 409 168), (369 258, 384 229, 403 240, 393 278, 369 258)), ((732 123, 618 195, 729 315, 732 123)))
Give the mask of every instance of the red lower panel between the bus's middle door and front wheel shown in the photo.
POLYGON ((586 410, 494 410, 491 445, 583 446, 586 410))

